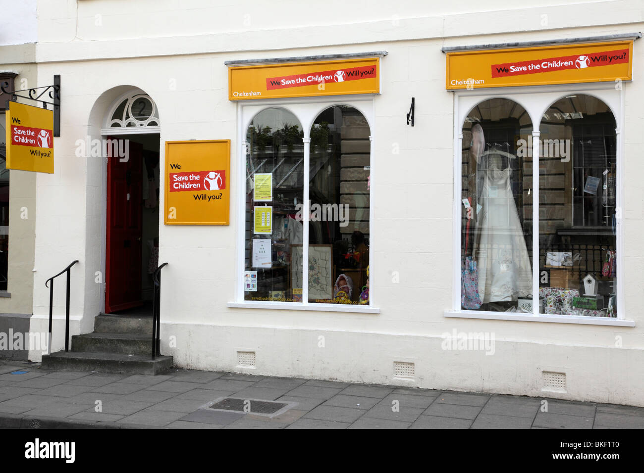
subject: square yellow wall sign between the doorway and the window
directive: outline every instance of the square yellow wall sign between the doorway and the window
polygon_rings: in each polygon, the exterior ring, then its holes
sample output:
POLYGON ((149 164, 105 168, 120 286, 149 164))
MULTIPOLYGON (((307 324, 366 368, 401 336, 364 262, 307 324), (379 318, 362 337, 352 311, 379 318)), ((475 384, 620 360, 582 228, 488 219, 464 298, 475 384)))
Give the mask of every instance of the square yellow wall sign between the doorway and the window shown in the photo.
POLYGON ((166 142, 166 225, 229 225, 231 140, 166 142))

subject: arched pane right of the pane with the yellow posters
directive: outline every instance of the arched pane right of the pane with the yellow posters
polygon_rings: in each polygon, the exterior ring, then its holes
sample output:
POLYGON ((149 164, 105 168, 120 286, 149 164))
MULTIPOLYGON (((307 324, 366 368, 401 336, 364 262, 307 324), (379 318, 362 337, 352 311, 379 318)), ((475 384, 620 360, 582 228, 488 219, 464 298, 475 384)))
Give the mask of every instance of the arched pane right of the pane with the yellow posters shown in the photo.
POLYGON ((365 117, 348 106, 327 108, 311 127, 309 302, 368 301, 369 136, 365 117))

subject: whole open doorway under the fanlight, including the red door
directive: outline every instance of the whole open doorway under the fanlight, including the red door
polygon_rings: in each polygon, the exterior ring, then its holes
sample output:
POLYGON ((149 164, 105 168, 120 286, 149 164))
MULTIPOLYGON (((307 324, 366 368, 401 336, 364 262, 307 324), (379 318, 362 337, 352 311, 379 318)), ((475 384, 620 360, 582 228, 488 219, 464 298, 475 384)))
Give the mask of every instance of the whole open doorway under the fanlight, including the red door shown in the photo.
POLYGON ((151 314, 152 273, 158 266, 160 135, 104 138, 112 140, 112 155, 119 152, 107 164, 105 313, 151 314))

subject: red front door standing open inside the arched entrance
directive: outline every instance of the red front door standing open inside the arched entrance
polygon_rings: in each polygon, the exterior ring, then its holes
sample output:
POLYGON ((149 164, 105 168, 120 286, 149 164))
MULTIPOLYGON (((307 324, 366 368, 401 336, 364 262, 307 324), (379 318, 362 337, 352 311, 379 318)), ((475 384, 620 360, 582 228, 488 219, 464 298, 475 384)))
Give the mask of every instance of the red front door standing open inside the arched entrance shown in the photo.
MULTIPOLYGON (((124 149, 123 145, 121 149, 124 149)), ((106 313, 142 304, 142 149, 142 145, 129 142, 126 162, 118 157, 108 158, 106 313)))

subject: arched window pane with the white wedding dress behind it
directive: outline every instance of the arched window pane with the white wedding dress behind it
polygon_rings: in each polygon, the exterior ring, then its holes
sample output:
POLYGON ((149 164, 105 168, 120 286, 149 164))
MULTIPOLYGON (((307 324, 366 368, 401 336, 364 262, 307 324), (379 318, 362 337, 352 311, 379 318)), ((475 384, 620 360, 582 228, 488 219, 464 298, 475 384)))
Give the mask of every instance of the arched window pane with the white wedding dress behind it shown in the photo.
POLYGON ((462 127, 461 308, 507 311, 532 297, 532 134, 524 107, 490 98, 462 127))

